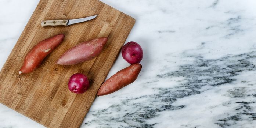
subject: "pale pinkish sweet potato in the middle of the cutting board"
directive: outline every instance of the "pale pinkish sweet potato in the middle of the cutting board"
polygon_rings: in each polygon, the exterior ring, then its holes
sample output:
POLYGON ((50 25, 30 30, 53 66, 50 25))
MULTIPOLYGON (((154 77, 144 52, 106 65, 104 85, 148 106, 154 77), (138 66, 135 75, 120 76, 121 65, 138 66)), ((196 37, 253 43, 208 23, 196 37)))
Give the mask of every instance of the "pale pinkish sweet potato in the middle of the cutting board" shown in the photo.
POLYGON ((101 53, 107 41, 107 37, 102 37, 76 45, 62 54, 56 64, 73 65, 93 59, 101 53))

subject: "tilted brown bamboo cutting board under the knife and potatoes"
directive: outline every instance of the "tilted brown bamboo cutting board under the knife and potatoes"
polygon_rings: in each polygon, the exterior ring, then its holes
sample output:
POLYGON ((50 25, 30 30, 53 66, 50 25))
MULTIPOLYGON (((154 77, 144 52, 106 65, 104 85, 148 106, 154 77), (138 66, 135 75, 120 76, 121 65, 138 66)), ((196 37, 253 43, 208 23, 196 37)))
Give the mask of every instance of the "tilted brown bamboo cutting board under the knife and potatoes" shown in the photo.
POLYGON ((98 0, 40 0, 0 72, 0 102, 46 127, 79 127, 134 23, 130 16, 98 0), (40 26, 43 20, 92 15, 98 17, 70 26, 40 26), (29 74, 18 74, 33 46, 61 33, 66 35, 64 41, 39 68, 29 74), (108 37, 99 56, 71 66, 55 64, 69 48, 98 37, 108 37), (90 88, 84 94, 68 90, 69 77, 77 72, 90 79, 90 88))

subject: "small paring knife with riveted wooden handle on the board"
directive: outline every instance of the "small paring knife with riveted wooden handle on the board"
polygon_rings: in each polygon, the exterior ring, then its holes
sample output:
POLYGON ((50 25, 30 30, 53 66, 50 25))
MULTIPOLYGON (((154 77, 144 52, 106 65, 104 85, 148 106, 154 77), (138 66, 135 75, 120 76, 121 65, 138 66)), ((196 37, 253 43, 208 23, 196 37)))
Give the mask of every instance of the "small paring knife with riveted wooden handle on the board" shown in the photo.
POLYGON ((46 20, 46 21, 42 21, 41 22, 41 26, 45 27, 45 26, 58 26, 58 25, 72 25, 75 23, 80 23, 80 22, 85 22, 88 20, 92 20, 94 18, 96 18, 98 15, 95 16, 90 16, 90 17, 85 17, 85 18, 79 18, 79 19, 70 19, 70 20, 46 20))

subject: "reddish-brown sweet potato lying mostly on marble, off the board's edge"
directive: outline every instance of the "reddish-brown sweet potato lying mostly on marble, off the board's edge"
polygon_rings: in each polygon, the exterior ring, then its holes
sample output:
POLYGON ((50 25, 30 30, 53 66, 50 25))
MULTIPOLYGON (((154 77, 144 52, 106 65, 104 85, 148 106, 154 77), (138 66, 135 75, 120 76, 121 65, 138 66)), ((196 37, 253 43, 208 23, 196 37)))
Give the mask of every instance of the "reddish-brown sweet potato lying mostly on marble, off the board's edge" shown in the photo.
POLYGON ((137 79, 141 68, 140 64, 133 64, 118 71, 101 85, 97 95, 107 95, 133 83, 137 79))

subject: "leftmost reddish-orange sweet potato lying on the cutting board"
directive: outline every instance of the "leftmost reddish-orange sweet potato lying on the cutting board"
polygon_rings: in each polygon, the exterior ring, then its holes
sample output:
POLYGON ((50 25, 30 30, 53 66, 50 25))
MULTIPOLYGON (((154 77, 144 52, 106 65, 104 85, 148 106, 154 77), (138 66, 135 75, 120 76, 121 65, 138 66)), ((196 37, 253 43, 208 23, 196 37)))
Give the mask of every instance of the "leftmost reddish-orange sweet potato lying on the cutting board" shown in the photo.
POLYGON ((64 37, 64 34, 59 34, 36 44, 26 55, 24 63, 19 70, 19 74, 34 71, 41 64, 43 59, 63 41, 64 37))

